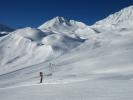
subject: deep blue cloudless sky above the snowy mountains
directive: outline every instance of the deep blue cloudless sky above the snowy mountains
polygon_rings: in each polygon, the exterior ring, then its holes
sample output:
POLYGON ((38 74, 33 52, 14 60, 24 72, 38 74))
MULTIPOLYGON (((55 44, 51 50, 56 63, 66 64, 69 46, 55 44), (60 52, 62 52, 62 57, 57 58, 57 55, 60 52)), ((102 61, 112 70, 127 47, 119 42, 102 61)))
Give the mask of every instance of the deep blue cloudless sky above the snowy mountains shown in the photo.
POLYGON ((0 0, 0 23, 38 27, 62 16, 91 25, 129 5, 133 0, 0 0))

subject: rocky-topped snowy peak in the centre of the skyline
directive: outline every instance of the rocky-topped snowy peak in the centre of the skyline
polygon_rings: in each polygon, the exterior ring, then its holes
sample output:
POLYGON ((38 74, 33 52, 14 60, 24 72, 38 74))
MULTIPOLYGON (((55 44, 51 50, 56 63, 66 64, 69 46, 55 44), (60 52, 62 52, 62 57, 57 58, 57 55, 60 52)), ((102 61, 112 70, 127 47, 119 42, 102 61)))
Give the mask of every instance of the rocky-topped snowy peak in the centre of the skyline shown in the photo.
POLYGON ((82 22, 69 20, 63 17, 54 17, 53 19, 45 22, 40 27, 42 31, 58 32, 58 33, 72 33, 77 28, 83 28, 86 25, 82 22))

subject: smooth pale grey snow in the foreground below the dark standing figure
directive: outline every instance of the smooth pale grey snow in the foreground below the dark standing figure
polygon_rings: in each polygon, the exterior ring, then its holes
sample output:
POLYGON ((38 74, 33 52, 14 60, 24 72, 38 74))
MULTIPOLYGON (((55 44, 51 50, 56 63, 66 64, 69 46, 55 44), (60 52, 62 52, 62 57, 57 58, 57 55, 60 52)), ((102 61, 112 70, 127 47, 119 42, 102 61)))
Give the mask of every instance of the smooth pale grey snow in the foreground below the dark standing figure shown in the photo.
POLYGON ((2 100, 132 100, 132 81, 81 81, 0 89, 2 100))

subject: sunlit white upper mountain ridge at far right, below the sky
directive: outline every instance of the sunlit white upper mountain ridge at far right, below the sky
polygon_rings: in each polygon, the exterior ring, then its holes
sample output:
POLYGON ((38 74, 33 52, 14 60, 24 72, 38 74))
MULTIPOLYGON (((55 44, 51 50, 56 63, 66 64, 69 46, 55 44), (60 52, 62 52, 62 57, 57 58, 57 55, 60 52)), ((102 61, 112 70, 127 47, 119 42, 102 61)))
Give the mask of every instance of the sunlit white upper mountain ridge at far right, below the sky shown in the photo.
POLYGON ((115 27, 124 27, 127 25, 133 25, 133 5, 126 7, 114 14, 109 15, 105 19, 96 22, 95 25, 102 26, 115 26, 115 27))

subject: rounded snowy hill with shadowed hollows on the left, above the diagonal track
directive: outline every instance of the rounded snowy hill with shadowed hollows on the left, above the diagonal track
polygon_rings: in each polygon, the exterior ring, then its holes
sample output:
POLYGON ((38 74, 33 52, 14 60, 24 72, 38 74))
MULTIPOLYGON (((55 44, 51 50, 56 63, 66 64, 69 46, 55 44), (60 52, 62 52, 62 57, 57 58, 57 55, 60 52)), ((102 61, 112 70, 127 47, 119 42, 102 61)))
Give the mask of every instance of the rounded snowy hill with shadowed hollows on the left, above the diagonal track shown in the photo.
POLYGON ((24 28, 8 34, 0 41, 0 73, 6 73, 51 60, 79 46, 82 39, 24 28))

